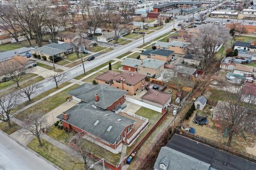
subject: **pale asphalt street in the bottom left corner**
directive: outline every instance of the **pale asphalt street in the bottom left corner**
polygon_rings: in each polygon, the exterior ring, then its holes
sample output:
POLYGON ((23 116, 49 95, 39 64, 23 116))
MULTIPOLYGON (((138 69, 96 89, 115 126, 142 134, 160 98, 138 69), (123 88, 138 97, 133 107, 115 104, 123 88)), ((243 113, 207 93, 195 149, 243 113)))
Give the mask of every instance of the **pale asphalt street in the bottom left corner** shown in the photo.
POLYGON ((0 131, 0 169, 1 170, 57 170, 34 152, 21 146, 17 141, 0 131))

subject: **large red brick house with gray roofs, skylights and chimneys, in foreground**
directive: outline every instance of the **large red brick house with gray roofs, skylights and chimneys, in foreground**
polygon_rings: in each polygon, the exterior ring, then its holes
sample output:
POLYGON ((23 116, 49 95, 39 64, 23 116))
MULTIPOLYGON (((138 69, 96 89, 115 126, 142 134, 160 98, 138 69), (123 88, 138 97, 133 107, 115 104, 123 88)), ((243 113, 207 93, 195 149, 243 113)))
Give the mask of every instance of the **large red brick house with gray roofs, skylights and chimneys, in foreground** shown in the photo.
POLYGON ((57 117, 64 127, 82 132, 101 146, 116 149, 121 143, 127 143, 126 137, 136 122, 113 112, 121 108, 126 93, 105 84, 85 83, 68 92, 79 103, 57 117))

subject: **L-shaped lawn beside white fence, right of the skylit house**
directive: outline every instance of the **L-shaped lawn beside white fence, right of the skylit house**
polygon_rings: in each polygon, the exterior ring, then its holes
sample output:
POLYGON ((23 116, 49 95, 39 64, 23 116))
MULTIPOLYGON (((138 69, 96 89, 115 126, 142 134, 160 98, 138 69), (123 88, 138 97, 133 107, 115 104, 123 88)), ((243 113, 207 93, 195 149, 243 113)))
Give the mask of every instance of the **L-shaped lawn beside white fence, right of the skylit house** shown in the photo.
POLYGON ((159 118, 162 116, 162 113, 153 111, 151 109, 148 109, 146 107, 141 107, 135 114, 148 118, 148 126, 146 127, 145 131, 143 131, 139 137, 132 143, 130 147, 127 147, 126 154, 130 154, 132 149, 135 147, 135 145, 148 133, 148 131, 154 126, 154 124, 159 120, 159 118))

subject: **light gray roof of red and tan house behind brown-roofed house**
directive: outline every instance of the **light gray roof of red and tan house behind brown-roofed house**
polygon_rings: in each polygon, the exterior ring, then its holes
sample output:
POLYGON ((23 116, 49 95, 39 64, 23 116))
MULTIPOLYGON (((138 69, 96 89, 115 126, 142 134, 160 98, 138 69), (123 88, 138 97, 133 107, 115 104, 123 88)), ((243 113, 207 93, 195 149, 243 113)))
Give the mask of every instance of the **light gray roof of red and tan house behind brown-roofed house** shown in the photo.
POLYGON ((147 67, 150 69, 158 69, 165 63, 164 61, 153 60, 150 58, 145 58, 142 61, 143 61, 143 63, 141 64, 141 60, 137 60, 137 59, 133 59, 133 58, 125 58, 121 64, 131 66, 131 67, 137 67, 137 65, 141 65, 141 66, 144 66, 144 67, 147 67))

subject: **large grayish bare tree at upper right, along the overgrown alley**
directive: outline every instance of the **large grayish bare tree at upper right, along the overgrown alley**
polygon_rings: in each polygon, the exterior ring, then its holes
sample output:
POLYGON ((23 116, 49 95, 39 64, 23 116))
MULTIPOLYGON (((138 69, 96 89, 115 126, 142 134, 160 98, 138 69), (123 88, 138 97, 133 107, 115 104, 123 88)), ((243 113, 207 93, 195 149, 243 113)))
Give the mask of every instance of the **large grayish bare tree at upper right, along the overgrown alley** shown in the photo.
POLYGON ((191 38, 189 50, 201 56, 201 68, 204 71, 213 61, 216 47, 227 42, 229 33, 223 27, 205 25, 199 28, 199 34, 191 38))

